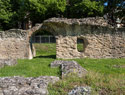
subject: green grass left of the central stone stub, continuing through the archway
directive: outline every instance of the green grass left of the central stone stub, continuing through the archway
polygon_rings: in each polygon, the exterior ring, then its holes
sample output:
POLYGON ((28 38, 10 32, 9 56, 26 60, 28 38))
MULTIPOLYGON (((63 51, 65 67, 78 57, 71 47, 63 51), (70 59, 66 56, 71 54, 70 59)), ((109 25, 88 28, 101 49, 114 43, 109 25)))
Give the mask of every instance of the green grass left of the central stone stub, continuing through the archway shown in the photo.
POLYGON ((38 77, 42 75, 60 76, 59 68, 50 68, 50 63, 55 60, 55 44, 35 44, 37 56, 32 60, 18 60, 15 66, 6 66, 0 69, 0 76, 38 77))

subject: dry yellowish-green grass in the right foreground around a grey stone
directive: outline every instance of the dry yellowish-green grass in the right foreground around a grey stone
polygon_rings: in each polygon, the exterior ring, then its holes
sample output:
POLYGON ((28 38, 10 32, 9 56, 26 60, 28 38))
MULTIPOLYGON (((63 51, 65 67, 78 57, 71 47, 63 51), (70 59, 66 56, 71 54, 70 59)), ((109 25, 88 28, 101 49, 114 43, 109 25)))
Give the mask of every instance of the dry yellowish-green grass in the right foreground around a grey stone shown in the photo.
POLYGON ((89 71, 87 76, 71 76, 50 84, 48 89, 50 95, 67 95, 78 86, 90 86, 91 95, 125 95, 125 75, 113 76, 89 71))

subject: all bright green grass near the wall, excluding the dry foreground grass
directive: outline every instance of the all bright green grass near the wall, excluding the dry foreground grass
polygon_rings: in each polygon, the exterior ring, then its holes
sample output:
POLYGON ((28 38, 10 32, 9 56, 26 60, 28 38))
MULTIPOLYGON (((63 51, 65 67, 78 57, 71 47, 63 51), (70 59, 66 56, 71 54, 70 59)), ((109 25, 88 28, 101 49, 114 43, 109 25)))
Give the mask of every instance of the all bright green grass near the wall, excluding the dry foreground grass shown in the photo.
MULTIPOLYGON (((56 44, 35 44, 37 56, 32 60, 18 60, 15 66, 6 66, 0 69, 0 76, 60 76, 59 68, 50 68, 50 63, 56 58, 56 44)), ((81 47, 81 45, 79 45, 81 47)), ((116 68, 114 65, 124 65, 123 59, 74 59, 88 71, 102 74, 125 74, 125 68, 116 68)))

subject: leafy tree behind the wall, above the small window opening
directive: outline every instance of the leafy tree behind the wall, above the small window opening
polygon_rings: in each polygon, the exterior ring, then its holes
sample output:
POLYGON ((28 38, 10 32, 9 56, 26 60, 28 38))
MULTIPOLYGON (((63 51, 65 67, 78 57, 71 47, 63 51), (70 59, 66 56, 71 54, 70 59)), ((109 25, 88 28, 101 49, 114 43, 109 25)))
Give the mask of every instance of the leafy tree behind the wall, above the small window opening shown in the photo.
POLYGON ((95 17, 103 15, 103 5, 101 2, 91 0, 78 0, 70 7, 70 17, 95 17), (78 15, 79 14, 79 15, 78 15))

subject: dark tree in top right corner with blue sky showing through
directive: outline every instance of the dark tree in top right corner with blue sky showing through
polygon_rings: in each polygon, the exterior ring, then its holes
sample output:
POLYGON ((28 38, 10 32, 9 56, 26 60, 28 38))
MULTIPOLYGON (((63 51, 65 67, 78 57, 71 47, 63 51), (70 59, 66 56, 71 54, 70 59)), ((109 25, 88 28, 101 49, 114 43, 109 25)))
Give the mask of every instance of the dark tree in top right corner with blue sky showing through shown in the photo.
POLYGON ((124 0, 108 0, 105 7, 105 13, 109 23, 115 25, 117 18, 121 20, 125 18, 125 1, 124 0))

